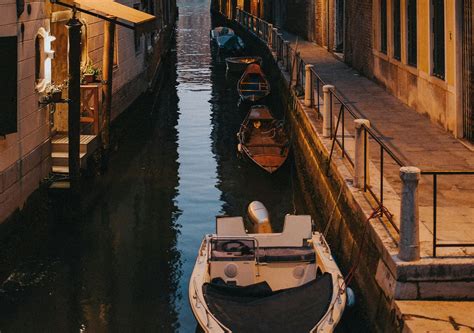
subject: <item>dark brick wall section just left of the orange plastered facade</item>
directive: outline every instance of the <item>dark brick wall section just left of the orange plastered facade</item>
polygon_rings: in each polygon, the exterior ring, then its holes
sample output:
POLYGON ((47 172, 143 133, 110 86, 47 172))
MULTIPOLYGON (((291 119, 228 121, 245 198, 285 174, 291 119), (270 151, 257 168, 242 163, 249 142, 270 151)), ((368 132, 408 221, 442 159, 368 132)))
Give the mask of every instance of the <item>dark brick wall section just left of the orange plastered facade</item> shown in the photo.
POLYGON ((373 76, 372 0, 346 1, 346 62, 367 77, 373 76))

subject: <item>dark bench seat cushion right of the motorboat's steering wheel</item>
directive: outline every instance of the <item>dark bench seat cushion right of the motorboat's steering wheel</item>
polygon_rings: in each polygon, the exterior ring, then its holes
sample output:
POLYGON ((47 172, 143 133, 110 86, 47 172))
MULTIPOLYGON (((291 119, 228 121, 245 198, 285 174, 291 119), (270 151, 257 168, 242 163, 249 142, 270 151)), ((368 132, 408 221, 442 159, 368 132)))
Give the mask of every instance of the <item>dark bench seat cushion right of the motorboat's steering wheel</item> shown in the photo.
POLYGON ((266 247, 258 252, 260 262, 278 261, 316 261, 316 254, 311 247, 266 247))

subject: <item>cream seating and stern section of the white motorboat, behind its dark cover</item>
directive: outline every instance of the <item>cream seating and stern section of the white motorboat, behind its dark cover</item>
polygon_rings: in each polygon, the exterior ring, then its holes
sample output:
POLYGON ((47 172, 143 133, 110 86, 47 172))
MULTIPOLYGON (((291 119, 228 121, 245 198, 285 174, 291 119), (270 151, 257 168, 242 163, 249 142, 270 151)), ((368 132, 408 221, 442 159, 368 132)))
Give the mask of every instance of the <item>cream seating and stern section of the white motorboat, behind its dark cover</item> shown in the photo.
POLYGON ((247 234, 242 217, 220 217, 216 223, 208 243, 211 281, 238 286, 266 281, 275 291, 315 279, 310 216, 287 215, 281 233, 247 234))

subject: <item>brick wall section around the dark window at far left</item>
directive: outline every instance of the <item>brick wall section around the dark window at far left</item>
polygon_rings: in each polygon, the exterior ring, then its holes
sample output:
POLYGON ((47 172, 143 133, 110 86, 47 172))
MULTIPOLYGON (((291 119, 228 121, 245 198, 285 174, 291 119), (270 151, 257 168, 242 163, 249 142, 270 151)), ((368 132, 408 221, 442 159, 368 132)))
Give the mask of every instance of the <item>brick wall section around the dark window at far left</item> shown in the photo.
POLYGON ((18 37, 18 132, 0 138, 0 223, 23 205, 50 170, 49 108, 38 107, 35 91, 35 38, 41 27, 48 27, 45 11, 44 1, 28 1, 17 18, 15 0, 0 3, 0 36, 18 37))

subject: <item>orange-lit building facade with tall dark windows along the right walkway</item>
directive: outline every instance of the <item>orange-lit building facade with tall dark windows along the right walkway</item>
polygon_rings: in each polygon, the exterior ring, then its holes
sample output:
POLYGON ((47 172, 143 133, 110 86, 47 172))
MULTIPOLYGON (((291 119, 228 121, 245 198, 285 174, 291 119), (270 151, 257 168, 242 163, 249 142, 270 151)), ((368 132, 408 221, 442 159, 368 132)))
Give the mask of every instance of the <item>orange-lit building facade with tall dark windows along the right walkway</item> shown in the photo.
POLYGON ((275 25, 315 41, 455 137, 474 141, 471 0, 261 1, 275 25))

